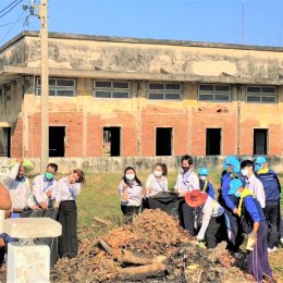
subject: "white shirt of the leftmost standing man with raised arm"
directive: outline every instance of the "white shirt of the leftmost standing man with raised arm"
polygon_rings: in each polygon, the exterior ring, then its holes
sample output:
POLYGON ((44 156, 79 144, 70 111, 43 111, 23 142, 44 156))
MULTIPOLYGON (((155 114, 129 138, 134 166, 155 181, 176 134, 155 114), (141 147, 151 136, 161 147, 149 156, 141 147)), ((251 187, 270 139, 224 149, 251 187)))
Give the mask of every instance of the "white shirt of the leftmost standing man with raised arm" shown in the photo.
POLYGON ((24 209, 35 206, 28 179, 26 176, 24 176, 22 181, 16 179, 20 165, 20 163, 16 163, 11 171, 2 177, 2 183, 10 193, 12 209, 24 209))

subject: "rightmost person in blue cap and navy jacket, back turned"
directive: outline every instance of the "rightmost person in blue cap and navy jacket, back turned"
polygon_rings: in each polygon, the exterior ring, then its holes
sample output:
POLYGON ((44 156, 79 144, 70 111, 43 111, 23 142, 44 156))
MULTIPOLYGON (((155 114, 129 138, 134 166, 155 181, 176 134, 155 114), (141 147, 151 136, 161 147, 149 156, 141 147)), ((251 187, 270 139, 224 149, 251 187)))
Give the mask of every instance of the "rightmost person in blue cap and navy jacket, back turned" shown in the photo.
POLYGON ((264 213, 269 225, 268 248, 269 253, 271 253, 276 250, 279 239, 283 237, 283 235, 280 233, 281 185, 276 173, 269 169, 267 159, 264 157, 258 157, 255 163, 256 176, 261 181, 266 193, 264 213))

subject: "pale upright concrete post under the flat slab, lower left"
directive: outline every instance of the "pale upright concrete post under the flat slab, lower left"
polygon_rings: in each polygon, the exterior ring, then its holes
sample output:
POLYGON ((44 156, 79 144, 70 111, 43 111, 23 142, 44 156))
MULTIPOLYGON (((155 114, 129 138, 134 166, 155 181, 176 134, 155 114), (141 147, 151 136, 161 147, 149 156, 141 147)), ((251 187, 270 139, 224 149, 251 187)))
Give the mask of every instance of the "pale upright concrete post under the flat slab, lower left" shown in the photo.
POLYGON ((8 245, 8 283, 49 282, 50 249, 47 245, 8 245))

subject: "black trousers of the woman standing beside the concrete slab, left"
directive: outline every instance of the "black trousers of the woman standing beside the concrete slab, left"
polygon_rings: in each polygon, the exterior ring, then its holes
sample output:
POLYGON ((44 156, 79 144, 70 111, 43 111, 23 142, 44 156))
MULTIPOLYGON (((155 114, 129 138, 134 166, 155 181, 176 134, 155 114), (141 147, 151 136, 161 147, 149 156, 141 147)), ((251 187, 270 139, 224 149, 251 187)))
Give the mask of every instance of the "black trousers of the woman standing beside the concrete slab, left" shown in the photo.
POLYGON ((62 201, 59 207, 58 220, 62 225, 59 237, 59 256, 74 258, 77 256, 77 211, 74 200, 62 201))

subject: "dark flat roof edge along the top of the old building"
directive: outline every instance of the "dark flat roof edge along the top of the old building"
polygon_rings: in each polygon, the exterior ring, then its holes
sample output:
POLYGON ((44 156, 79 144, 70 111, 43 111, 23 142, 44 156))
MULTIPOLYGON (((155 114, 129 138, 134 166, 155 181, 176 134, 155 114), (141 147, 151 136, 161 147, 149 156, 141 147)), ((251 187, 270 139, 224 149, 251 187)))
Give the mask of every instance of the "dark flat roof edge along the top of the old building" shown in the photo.
MULTIPOLYGON (((0 47, 0 52, 9 48, 16 41, 21 40, 25 36, 38 37, 39 33, 34 30, 23 30, 21 34, 19 34, 14 38, 5 42, 2 47, 0 47)), ((202 41, 173 40, 173 39, 150 39, 150 38, 119 37, 119 36, 97 36, 97 35, 67 34, 67 33, 52 33, 52 32, 49 32, 49 38, 283 52, 283 47, 272 47, 272 46, 248 46, 248 45, 237 45, 237 44, 202 42, 202 41)))

